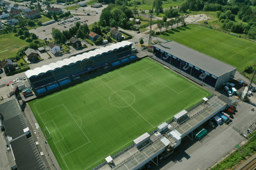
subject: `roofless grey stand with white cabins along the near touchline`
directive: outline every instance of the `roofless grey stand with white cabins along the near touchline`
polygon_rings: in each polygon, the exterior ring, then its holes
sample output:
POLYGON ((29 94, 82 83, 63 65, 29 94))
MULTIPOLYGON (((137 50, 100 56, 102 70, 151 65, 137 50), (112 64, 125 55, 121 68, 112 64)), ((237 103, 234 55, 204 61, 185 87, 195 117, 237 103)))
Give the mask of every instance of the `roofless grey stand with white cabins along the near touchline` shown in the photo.
MULTIPOLYGON (((144 143, 140 147, 134 144, 128 146, 116 155, 112 156, 111 162, 104 161, 93 170, 131 170, 141 169, 149 163, 158 166, 159 155, 164 158, 174 152, 174 149, 181 144, 184 137, 195 140, 195 132, 203 123, 211 119, 216 113, 228 108, 232 100, 224 95, 208 97, 207 103, 203 100, 187 110, 189 116, 184 121, 177 123, 172 119, 168 123, 163 123, 167 127, 162 130, 156 129, 150 133, 150 142, 144 143), (167 125, 168 124, 168 125, 167 125)), ((109 159, 109 157, 108 157, 109 159)))

